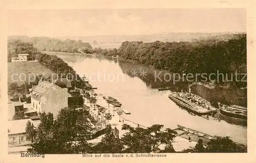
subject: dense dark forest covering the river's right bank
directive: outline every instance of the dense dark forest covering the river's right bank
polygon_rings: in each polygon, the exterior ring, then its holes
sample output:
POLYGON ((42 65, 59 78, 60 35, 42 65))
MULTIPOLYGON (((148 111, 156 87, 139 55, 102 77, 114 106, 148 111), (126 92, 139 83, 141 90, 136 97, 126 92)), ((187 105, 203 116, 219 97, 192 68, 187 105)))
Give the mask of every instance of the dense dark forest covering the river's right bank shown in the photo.
POLYGON ((246 72, 246 35, 228 41, 123 42, 108 55, 119 55, 159 69, 181 73, 246 72))

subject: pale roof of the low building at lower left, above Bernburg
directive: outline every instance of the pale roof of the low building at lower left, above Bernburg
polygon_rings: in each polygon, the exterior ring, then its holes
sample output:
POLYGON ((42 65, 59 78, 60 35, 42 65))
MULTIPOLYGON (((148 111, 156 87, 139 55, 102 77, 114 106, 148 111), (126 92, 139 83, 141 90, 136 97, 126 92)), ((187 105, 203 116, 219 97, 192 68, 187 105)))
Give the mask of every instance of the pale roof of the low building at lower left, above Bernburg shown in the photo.
POLYGON ((37 121, 32 121, 31 119, 8 121, 8 134, 25 133, 28 121, 32 122, 35 127, 39 124, 37 121))

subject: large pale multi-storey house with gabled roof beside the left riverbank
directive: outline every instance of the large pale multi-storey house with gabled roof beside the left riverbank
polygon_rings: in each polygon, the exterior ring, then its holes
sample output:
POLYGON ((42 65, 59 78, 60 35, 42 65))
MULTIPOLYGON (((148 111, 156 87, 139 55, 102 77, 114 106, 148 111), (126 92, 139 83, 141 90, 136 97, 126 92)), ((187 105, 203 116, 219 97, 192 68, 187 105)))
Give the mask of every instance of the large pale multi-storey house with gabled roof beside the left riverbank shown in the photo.
POLYGON ((37 113, 51 112, 54 117, 63 107, 68 107, 68 89, 49 82, 40 82, 31 90, 31 107, 37 113))

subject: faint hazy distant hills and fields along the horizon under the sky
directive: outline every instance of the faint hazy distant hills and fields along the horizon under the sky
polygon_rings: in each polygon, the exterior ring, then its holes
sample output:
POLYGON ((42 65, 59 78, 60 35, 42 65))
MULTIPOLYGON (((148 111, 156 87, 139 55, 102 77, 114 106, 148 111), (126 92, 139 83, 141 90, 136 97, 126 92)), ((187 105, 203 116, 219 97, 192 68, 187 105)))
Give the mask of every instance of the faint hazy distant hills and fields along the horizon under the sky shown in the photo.
MULTIPOLYGON (((102 36, 63 36, 63 37, 27 37, 27 36, 9 36, 9 40, 20 39, 25 42, 31 42, 39 50, 54 51, 59 49, 59 42, 81 40, 83 43, 88 43, 87 48, 102 47, 114 48, 120 47, 125 41, 142 41, 142 42, 180 42, 180 41, 195 41, 203 39, 218 39, 229 40, 234 37, 235 33, 164 33, 154 35, 102 35, 102 36), (52 44, 52 46, 49 45, 52 44), (48 44, 48 45, 46 45, 48 44), (47 46, 47 49, 44 49, 47 46), (49 47, 50 46, 50 47, 49 47), (53 47, 54 46, 54 47, 53 47), (92 47, 91 47, 92 46, 92 47)), ((71 48, 71 47, 70 47, 71 48)), ((67 50, 67 49, 66 49, 67 50)), ((72 51, 72 49, 69 49, 72 51)))

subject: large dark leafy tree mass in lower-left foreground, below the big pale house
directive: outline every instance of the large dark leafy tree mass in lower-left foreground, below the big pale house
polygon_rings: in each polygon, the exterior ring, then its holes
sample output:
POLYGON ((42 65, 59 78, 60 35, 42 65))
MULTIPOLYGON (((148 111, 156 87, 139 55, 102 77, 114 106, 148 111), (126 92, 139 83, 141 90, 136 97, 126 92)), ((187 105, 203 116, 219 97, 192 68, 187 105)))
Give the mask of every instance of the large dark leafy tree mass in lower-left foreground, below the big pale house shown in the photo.
POLYGON ((62 108, 53 120, 53 114, 40 114, 40 124, 36 130, 37 141, 28 149, 29 153, 71 154, 84 153, 90 150, 84 138, 89 134, 87 118, 78 120, 74 108, 62 108), (77 141, 78 143, 74 143, 77 141))

